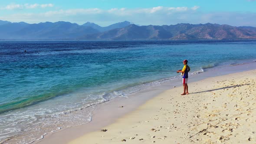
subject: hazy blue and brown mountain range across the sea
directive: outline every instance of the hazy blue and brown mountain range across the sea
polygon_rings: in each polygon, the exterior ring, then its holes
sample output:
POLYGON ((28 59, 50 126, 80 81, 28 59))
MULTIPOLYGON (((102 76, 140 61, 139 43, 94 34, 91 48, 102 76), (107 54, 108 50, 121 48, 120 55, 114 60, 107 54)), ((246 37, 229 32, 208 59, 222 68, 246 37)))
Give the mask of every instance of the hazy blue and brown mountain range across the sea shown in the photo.
POLYGON ((0 40, 188 40, 256 39, 256 27, 220 24, 138 26, 128 21, 102 27, 59 21, 38 24, 0 20, 0 40))

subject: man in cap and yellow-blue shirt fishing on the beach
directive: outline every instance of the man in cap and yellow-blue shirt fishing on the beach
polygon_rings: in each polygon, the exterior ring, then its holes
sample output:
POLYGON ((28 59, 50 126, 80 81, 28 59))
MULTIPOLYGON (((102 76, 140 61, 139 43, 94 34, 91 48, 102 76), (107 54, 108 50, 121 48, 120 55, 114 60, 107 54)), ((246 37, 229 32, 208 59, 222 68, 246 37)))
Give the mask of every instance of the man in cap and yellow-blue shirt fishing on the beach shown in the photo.
POLYGON ((184 92, 181 95, 188 95, 188 87, 187 87, 187 79, 188 79, 188 71, 189 71, 189 67, 187 66, 187 59, 185 59, 183 61, 184 67, 182 70, 177 70, 177 73, 181 72, 182 73, 182 83, 183 83, 183 88, 184 88, 184 92), (187 92, 186 92, 187 91, 187 92))

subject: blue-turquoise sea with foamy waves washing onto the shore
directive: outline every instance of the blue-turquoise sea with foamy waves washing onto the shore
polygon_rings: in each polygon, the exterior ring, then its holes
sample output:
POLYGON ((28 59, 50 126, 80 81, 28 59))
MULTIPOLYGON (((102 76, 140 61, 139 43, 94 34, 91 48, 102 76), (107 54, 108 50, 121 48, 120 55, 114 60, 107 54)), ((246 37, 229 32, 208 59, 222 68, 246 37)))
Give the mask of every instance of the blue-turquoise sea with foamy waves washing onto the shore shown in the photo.
POLYGON ((256 40, 2 41, 0 142, 86 124, 96 105, 189 75, 256 61, 256 40))

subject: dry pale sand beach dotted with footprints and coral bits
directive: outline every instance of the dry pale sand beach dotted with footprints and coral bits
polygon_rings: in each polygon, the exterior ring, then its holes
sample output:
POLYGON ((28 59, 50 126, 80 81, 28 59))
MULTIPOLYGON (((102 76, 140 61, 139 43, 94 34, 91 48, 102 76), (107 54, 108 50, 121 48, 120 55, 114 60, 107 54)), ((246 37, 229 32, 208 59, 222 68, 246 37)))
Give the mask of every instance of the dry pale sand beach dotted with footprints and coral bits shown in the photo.
POLYGON ((180 95, 182 87, 167 90, 113 124, 69 144, 256 143, 256 70, 188 86, 189 95, 180 95))

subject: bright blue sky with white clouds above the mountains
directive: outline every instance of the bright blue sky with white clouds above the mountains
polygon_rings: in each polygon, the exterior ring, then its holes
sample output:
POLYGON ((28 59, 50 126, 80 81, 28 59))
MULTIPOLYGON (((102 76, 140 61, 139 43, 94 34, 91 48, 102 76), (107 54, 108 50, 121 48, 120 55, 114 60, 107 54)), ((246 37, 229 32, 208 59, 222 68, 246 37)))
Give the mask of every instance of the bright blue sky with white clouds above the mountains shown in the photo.
POLYGON ((256 26, 256 0, 1 0, 0 20, 256 26))

